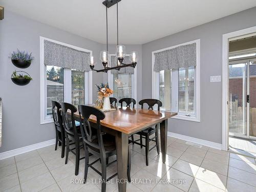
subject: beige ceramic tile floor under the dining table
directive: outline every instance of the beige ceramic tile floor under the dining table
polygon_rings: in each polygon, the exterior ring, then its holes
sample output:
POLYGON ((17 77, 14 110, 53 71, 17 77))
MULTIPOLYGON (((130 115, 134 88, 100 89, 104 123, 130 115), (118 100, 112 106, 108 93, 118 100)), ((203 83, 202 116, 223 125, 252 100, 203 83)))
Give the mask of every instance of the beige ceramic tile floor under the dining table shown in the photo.
MULTIPOLYGON (((161 163, 161 156, 153 150, 149 166, 145 166, 144 150, 138 145, 132 146, 134 183, 127 184, 127 191, 256 191, 254 158, 187 145, 172 137, 168 137, 167 145, 166 163, 161 163), (136 183, 136 179, 151 182, 136 183), (172 183, 166 184, 166 180, 172 183)), ((90 157, 90 161, 94 159, 90 157)), ((92 169, 89 169, 89 183, 72 183, 74 179, 83 178, 84 168, 82 160, 79 175, 75 176, 74 160, 75 156, 70 154, 65 165, 65 159, 60 158, 60 148, 54 151, 53 145, 1 160, 0 191, 100 191, 100 184, 95 183, 100 176, 92 169)), ((95 166, 100 169, 99 163, 95 166)), ((109 166, 108 176, 116 173, 116 169, 116 164, 109 166)), ((118 191, 115 179, 106 185, 107 191, 118 191)))

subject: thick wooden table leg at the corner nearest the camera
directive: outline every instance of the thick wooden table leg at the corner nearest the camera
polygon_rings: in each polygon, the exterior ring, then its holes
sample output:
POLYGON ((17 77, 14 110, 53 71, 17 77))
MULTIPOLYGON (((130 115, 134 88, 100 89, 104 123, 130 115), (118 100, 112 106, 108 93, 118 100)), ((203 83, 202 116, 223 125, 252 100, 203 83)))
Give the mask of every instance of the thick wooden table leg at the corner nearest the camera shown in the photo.
POLYGON ((116 137, 118 191, 125 192, 126 182, 127 182, 129 136, 127 134, 117 132, 115 137, 116 137))

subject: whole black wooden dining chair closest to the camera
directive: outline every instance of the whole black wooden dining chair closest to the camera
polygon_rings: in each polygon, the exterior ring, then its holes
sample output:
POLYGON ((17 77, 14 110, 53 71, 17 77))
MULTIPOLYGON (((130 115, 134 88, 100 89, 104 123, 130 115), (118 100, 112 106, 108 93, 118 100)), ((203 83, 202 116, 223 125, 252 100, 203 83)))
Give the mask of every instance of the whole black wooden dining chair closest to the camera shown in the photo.
MULTIPOLYGON (((106 181, 117 176, 117 173, 106 178, 106 167, 111 165, 112 163, 116 162, 116 160, 108 163, 107 159, 109 157, 116 155, 116 143, 115 137, 109 134, 105 134, 101 130, 100 121, 105 118, 105 114, 92 107, 87 105, 79 105, 78 106, 79 115, 80 115, 80 130, 82 134, 82 141, 84 145, 84 152, 85 152, 85 166, 84 166, 84 183, 87 181, 88 175, 88 168, 91 167, 96 173, 101 175, 102 183, 101 183, 101 191, 106 191, 106 181), (96 117, 96 124, 94 123, 93 127, 91 122, 89 121, 89 117, 93 115, 96 117), (93 129, 97 130, 97 135, 93 135, 93 129), (96 137, 95 137, 96 136, 96 137), (92 163, 89 163, 89 153, 96 156, 98 159, 92 163), (93 167, 93 164, 96 162, 101 162, 101 173, 93 167)), ((131 182, 131 147, 129 145, 128 148, 128 162, 127 162, 127 178, 129 182, 131 182)))

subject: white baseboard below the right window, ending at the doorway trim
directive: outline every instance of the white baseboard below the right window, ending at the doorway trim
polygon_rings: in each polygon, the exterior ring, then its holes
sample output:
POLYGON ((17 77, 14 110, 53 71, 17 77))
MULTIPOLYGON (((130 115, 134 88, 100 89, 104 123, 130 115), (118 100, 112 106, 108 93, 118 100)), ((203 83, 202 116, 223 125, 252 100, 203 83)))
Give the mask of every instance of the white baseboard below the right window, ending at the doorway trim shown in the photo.
POLYGON ((192 143, 197 143, 197 144, 200 144, 200 145, 212 147, 212 148, 217 148, 217 150, 222 150, 222 144, 220 144, 220 143, 206 141, 206 140, 203 140, 203 139, 197 139, 195 137, 189 137, 189 136, 180 135, 180 134, 172 133, 172 132, 168 132, 168 136, 169 137, 174 137, 174 138, 177 138, 177 139, 182 139, 182 140, 185 140, 185 141, 189 141, 189 142, 192 142, 192 143))

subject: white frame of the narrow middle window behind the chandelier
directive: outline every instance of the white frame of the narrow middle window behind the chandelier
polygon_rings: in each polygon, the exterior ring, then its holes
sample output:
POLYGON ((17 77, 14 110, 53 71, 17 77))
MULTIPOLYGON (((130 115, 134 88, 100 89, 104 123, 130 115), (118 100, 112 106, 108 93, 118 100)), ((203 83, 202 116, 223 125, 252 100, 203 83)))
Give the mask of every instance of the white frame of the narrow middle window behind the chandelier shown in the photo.
MULTIPOLYGON (((111 56, 115 56, 115 54, 110 54, 110 63, 111 63, 111 56)), ((125 55, 125 56, 129 56, 129 55, 125 55)), ((111 73, 111 71, 108 71, 108 82, 109 82, 109 86, 112 89, 114 89, 114 75, 111 73)), ((134 74, 132 74, 132 98, 134 98, 137 101, 137 67, 134 68, 134 74)), ((135 104, 135 107, 137 107, 137 103, 135 104)))

